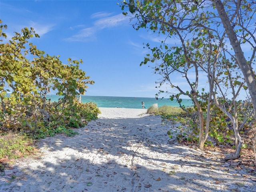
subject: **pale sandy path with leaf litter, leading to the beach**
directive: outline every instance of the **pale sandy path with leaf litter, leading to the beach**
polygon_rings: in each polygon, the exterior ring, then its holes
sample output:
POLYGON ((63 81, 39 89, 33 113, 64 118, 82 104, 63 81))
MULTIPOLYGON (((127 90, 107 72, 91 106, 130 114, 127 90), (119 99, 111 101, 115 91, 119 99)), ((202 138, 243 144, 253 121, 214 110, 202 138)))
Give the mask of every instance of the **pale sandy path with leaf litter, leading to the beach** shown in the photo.
POLYGON ((169 138, 178 125, 146 109, 100 108, 98 119, 37 142, 0 177, 1 192, 255 192, 248 170, 169 138))

